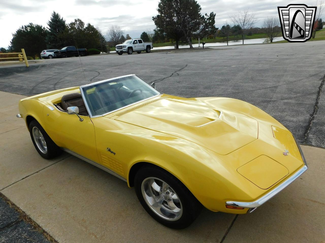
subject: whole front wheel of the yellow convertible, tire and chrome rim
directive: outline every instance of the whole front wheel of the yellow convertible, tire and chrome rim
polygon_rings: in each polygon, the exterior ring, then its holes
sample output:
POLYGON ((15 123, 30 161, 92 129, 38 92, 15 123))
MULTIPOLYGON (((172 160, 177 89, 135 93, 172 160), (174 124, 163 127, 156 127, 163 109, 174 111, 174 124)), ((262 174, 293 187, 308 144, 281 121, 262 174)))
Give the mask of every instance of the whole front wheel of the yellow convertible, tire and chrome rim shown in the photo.
POLYGON ((201 212, 201 203, 181 181, 162 168, 141 168, 134 185, 143 208, 164 226, 186 228, 201 212))

